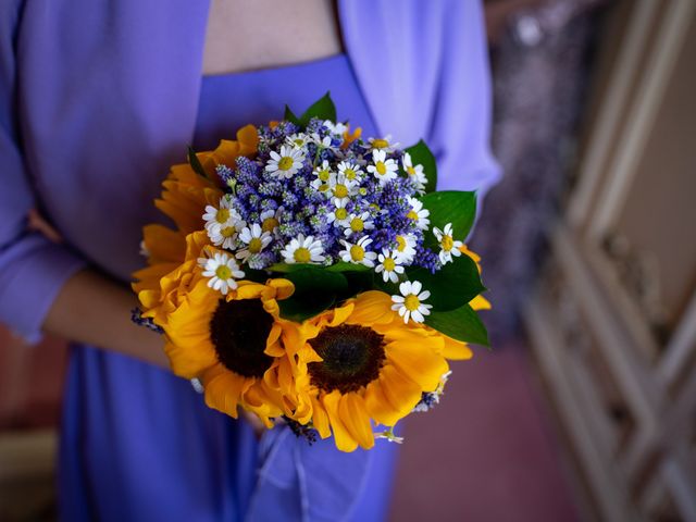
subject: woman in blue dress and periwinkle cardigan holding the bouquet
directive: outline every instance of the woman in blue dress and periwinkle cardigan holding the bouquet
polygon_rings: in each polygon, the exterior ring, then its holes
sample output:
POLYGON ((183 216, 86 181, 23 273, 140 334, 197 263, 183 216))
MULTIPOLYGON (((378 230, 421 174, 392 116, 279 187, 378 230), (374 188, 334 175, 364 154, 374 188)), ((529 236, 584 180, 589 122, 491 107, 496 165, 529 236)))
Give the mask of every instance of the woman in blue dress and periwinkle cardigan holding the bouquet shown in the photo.
POLYGON ((426 139, 438 188, 485 191, 497 169, 481 5, 11 0, 0 24, 0 321, 75 341, 62 518, 384 518, 393 446, 345 455, 282 428, 258 444, 163 370, 159 337, 129 323, 127 282, 186 144, 211 148, 326 90, 366 136, 426 139), (33 207, 62 244, 26 229, 33 207))

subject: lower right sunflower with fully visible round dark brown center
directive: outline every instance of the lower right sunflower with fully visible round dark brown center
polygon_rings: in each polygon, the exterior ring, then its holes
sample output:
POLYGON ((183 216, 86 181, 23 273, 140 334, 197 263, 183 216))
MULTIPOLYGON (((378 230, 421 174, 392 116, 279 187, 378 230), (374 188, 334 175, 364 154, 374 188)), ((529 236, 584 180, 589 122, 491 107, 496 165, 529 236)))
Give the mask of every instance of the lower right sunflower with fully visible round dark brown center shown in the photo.
POLYGON ((313 427, 322 438, 333 433, 341 451, 374 446, 373 423, 394 426, 449 369, 444 336, 405 325, 382 291, 361 294, 302 328, 312 358, 298 352, 297 382, 307 383, 300 396, 311 402, 313 427))

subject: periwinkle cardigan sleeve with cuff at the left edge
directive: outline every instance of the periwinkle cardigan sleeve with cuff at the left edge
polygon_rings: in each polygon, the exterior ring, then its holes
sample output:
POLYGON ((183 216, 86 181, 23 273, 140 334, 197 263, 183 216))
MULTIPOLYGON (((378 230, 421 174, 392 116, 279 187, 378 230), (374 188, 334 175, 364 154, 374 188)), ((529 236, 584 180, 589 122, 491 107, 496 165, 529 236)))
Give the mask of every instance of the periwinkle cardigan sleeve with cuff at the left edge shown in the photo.
POLYGON ((40 330, 61 286, 86 263, 67 247, 27 229, 37 203, 20 146, 15 111, 16 36, 22 2, 0 7, 0 323, 29 341, 40 330))

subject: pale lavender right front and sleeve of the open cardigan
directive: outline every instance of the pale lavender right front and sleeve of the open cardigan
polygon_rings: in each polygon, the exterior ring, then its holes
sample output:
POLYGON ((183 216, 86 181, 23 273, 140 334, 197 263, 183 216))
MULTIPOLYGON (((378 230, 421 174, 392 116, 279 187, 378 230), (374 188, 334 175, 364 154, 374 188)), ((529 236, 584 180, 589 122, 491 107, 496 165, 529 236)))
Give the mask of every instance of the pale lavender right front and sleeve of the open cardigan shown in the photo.
POLYGON ((477 190, 500 177, 490 153, 490 70, 481 0, 344 0, 346 48, 382 134, 423 138, 438 190, 477 190))

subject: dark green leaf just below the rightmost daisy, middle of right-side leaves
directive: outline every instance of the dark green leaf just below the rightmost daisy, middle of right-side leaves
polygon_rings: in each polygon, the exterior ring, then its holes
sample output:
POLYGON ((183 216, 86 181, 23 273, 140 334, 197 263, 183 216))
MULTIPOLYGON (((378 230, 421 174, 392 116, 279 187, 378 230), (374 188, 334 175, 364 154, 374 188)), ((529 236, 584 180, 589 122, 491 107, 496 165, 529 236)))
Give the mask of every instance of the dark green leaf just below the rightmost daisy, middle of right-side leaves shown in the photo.
POLYGON ((455 310, 467 304, 486 288, 481 283, 476 263, 465 254, 452 258, 440 270, 431 273, 427 269, 406 269, 410 281, 420 281, 423 289, 430 290, 427 303, 435 311, 455 310))

